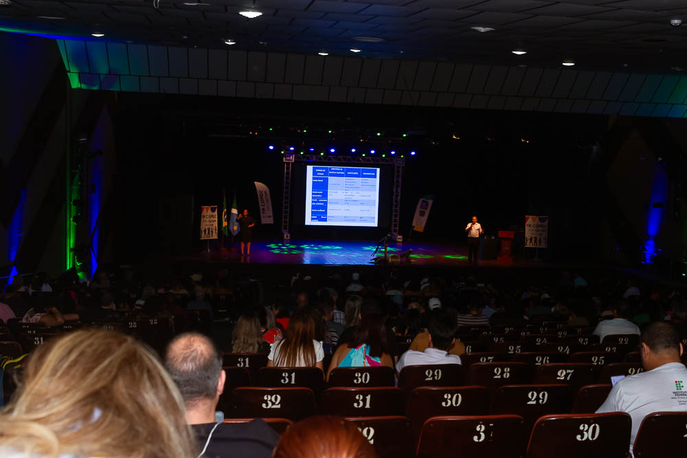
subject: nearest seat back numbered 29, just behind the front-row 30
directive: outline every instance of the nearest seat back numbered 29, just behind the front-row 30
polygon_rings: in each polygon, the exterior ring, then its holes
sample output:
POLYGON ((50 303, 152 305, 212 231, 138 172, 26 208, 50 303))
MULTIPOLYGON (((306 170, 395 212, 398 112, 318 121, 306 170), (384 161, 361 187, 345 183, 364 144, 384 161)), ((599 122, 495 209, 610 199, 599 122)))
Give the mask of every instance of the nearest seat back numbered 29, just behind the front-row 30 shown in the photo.
POLYGON ((491 413, 520 415, 525 433, 534 422, 550 413, 570 413, 572 393, 567 385, 504 385, 496 391, 491 413))

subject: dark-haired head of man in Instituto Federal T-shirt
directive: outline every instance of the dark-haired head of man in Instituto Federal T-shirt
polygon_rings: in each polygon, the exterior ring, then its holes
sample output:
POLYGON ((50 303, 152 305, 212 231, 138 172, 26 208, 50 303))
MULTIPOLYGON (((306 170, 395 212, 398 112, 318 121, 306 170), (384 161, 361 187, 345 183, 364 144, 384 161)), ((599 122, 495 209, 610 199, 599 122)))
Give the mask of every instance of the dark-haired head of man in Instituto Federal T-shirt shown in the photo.
POLYGON ((644 329, 640 337, 642 365, 647 371, 668 363, 679 363, 682 343, 675 326, 666 321, 656 321, 644 329))

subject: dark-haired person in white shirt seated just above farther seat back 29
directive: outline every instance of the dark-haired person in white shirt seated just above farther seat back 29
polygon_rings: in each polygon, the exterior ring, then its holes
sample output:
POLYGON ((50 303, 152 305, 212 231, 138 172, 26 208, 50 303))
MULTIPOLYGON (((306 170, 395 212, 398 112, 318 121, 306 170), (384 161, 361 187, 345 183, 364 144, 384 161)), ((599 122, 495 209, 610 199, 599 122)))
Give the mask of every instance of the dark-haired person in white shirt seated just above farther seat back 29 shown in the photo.
POLYGON ((460 364, 460 356, 449 354, 455 342, 455 314, 447 310, 437 310, 429 317, 429 342, 424 352, 408 350, 396 363, 399 373, 405 366, 427 364, 460 364))

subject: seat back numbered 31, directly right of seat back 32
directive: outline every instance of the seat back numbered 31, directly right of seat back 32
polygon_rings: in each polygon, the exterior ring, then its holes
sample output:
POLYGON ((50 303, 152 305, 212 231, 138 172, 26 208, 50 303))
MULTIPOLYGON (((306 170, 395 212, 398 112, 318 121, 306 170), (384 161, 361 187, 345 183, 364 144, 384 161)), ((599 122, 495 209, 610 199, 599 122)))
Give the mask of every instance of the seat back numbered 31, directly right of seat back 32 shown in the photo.
POLYGON ((396 387, 328 388, 319 404, 324 415, 375 417, 403 414, 403 392, 396 387))

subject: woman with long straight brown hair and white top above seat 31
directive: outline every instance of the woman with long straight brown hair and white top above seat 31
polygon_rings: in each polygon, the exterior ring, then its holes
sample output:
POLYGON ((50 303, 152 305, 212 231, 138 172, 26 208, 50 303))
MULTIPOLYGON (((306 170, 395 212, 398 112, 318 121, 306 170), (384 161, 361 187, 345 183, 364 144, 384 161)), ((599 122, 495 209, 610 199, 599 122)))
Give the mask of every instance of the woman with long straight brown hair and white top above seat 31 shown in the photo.
POLYGON ((293 312, 284 339, 272 345, 267 367, 319 367, 324 371, 322 342, 315 340, 315 319, 307 308, 293 312))

